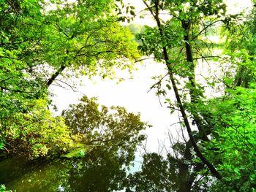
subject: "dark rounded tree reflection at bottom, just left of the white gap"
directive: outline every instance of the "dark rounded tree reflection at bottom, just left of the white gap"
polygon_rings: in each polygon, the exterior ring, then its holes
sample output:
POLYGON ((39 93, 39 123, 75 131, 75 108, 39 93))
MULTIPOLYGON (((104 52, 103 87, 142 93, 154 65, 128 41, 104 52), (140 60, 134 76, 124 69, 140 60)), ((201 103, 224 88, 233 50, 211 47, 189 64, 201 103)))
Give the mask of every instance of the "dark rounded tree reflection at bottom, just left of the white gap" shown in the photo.
POLYGON ((71 191, 117 191, 126 177, 118 155, 96 151, 89 158, 72 162, 69 172, 71 191))

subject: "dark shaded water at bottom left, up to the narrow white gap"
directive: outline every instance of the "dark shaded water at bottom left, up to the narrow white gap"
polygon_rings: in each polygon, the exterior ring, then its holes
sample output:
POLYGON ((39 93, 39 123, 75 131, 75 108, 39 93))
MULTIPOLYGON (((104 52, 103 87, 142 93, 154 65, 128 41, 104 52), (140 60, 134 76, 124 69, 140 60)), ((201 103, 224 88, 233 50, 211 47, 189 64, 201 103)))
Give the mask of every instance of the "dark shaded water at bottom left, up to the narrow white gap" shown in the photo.
POLYGON ((52 161, 20 157, 0 161, 0 184, 17 192, 118 191, 125 177, 118 156, 108 153, 52 161))

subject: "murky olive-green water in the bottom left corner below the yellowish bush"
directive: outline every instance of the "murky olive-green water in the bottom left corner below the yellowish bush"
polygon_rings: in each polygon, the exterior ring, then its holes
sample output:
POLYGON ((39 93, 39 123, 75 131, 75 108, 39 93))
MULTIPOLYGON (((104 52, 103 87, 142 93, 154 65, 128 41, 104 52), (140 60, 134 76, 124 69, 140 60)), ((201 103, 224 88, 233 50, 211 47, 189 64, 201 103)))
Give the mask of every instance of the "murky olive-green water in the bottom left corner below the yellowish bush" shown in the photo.
POLYGON ((58 191, 67 180, 64 161, 26 161, 9 158, 0 162, 0 183, 16 191, 58 191))

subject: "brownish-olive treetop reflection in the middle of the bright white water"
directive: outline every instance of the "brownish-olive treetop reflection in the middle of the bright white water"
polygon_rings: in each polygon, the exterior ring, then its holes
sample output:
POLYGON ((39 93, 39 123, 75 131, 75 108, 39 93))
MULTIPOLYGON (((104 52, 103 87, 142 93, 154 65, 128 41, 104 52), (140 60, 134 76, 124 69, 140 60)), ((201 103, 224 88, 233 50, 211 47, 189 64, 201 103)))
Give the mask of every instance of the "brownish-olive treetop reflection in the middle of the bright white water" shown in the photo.
POLYGON ((134 159, 136 146, 145 139, 140 131, 149 126, 140 121, 139 114, 127 112, 124 107, 100 107, 96 99, 86 96, 64 111, 63 117, 72 134, 80 135, 83 145, 118 155, 118 161, 126 165, 134 159))

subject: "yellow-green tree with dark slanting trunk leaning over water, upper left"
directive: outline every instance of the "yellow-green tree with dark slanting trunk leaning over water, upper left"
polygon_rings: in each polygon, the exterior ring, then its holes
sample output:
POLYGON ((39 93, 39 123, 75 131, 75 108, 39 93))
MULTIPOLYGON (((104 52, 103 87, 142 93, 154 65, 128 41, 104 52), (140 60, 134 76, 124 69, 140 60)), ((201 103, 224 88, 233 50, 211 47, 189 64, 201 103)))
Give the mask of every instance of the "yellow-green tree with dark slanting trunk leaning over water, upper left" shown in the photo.
POLYGON ((105 77, 113 66, 131 66, 127 59, 138 57, 136 43, 112 7, 114 1, 76 1, 50 11, 48 35, 42 42, 43 59, 55 69, 46 80, 48 86, 66 68, 105 77))

